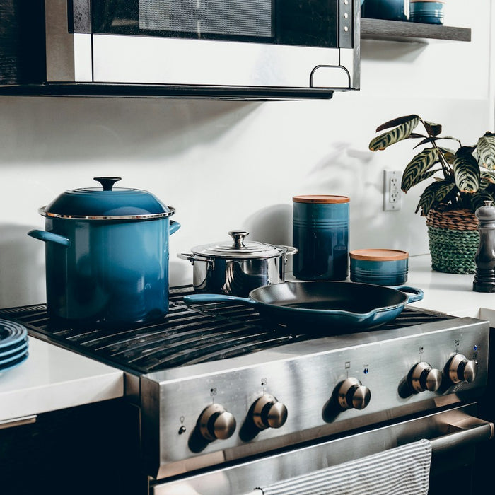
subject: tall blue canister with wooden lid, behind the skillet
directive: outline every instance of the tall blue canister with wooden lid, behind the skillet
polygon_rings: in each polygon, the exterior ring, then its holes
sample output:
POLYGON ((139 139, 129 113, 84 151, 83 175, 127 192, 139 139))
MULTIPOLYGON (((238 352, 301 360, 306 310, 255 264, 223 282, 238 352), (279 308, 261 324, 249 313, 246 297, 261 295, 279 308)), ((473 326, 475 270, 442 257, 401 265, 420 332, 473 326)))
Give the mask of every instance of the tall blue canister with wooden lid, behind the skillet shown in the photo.
POLYGON ((349 275, 347 196, 293 198, 293 274, 301 280, 345 280, 349 275))

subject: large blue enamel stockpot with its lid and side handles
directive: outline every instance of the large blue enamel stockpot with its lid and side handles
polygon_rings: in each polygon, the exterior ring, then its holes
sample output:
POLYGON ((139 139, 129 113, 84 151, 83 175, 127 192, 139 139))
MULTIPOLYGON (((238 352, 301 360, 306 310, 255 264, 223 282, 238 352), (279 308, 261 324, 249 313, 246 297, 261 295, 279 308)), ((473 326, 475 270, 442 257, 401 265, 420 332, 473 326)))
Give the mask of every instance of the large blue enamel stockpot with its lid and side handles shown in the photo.
POLYGON ((40 208, 47 310, 56 318, 126 325, 168 313, 168 241, 180 224, 153 194, 113 187, 69 190, 40 208))

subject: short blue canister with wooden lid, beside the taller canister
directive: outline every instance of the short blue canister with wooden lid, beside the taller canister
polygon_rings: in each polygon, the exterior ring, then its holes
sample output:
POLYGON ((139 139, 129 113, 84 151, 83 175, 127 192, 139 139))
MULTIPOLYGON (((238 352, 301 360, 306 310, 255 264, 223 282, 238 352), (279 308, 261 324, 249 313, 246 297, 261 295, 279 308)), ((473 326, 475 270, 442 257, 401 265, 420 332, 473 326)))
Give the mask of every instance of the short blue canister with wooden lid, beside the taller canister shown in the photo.
POLYGON ((356 249, 349 253, 351 281, 382 286, 407 281, 409 253, 395 249, 356 249))

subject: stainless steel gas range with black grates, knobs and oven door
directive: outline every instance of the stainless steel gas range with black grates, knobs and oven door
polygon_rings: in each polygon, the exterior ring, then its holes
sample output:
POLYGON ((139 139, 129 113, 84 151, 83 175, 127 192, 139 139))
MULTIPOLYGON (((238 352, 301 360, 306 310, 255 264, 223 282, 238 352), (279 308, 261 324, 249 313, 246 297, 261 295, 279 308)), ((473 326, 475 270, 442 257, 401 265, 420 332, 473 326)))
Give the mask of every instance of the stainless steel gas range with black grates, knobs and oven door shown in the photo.
POLYGON ((406 307, 377 330, 325 336, 242 303, 189 307, 189 293, 172 288, 168 315, 145 327, 69 326, 45 305, 0 316, 124 370, 150 494, 261 494, 421 438, 432 446, 430 493, 449 479, 471 493, 475 447, 493 436, 475 416, 489 322, 406 307))

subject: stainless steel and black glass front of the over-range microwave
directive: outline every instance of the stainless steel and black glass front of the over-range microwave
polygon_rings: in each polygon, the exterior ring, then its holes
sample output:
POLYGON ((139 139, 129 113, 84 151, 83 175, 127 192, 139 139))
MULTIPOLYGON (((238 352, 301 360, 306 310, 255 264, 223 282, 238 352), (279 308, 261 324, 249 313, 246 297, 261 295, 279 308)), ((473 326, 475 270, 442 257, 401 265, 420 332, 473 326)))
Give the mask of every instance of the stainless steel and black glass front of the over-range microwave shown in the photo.
POLYGON ((46 16, 51 83, 359 88, 359 0, 47 0, 46 16))

